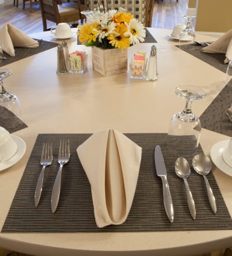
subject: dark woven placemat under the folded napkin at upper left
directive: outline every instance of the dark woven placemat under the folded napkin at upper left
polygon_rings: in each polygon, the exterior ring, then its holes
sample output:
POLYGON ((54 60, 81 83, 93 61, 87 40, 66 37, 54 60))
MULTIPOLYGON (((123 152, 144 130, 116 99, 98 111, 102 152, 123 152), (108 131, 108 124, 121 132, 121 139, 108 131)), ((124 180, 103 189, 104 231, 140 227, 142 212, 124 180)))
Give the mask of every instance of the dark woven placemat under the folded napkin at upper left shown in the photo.
MULTIPOLYGON (((37 39, 36 39, 37 40, 37 39)), ((11 57, 10 55, 6 54, 4 52, 4 56, 7 57, 7 59, 0 59, 0 67, 8 65, 10 63, 20 61, 20 59, 27 58, 29 56, 39 54, 40 52, 44 52, 46 50, 52 49, 57 46, 56 42, 49 42, 49 41, 39 41, 39 47, 37 48, 21 48, 21 47, 15 47, 15 56, 11 57)))

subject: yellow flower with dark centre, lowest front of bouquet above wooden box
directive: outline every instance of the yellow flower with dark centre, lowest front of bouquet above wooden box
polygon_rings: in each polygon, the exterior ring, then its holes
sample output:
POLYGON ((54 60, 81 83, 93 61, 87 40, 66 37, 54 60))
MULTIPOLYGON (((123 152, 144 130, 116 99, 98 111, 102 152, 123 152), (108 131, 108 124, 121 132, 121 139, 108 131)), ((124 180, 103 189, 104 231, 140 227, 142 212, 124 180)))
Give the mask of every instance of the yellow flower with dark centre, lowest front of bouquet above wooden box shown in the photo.
POLYGON ((108 35, 107 39, 110 41, 109 43, 118 49, 126 49, 130 46, 130 36, 124 35, 127 32, 126 26, 124 24, 119 25, 115 29, 115 33, 108 35))

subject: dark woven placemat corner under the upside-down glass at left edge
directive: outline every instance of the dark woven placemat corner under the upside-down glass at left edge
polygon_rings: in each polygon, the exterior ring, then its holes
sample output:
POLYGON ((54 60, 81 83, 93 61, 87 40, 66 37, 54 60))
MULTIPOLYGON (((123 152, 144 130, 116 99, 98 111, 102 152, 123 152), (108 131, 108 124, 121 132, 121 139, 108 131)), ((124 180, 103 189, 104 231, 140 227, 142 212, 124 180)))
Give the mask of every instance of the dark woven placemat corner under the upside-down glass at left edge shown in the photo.
POLYGON ((0 106, 0 126, 4 127, 9 133, 14 133, 14 131, 19 131, 27 127, 21 119, 17 118, 13 112, 4 106, 0 106))

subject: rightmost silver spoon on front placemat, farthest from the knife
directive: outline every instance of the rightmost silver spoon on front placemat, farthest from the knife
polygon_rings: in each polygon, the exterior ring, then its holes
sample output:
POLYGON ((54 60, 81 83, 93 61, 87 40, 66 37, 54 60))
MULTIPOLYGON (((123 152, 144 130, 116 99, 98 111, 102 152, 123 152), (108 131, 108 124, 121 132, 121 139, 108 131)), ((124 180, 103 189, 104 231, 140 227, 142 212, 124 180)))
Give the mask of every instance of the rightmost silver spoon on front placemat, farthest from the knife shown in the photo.
POLYGON ((208 194, 208 198, 209 198, 209 203, 211 205, 213 212, 216 214, 216 212, 217 212, 216 200, 213 195, 211 186, 209 185, 208 179, 206 177, 206 175, 208 175, 212 169, 211 159, 209 159, 204 154, 195 155, 195 157, 193 158, 193 168, 198 174, 200 174, 204 177, 207 194, 208 194))

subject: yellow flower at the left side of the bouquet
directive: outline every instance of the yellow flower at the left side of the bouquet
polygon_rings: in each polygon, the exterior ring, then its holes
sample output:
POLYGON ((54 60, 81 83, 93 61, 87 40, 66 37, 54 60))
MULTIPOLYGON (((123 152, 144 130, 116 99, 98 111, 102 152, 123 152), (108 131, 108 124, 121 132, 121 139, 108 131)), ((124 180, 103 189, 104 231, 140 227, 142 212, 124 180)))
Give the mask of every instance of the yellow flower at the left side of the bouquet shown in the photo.
POLYGON ((82 44, 85 44, 85 42, 96 42, 97 38, 97 30, 96 30, 97 24, 84 24, 83 26, 78 26, 78 39, 82 44))

